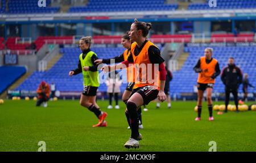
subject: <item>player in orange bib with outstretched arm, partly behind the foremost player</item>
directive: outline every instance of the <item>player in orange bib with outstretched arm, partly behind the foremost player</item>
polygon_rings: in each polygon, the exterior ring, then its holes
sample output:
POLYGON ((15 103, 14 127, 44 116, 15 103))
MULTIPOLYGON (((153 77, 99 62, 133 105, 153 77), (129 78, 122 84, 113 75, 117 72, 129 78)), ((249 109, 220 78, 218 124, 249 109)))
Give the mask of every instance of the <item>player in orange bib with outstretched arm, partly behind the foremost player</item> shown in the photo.
MULTIPOLYGON (((126 48, 126 50, 119 56, 114 57, 114 58, 109 58, 109 59, 98 59, 95 62, 97 64, 110 64, 110 60, 114 60, 115 63, 118 62, 123 62, 126 61, 127 58, 130 56, 130 52, 131 52, 131 40, 130 37, 128 35, 129 31, 126 32, 125 35, 122 36, 121 39, 121 44, 123 45, 124 48, 126 48)), ((133 90, 133 86, 134 86, 134 69, 133 67, 127 68, 126 69, 127 72, 127 86, 126 86, 126 90, 123 92, 122 95, 122 101, 125 103, 127 103, 128 99, 130 98, 131 95, 131 91, 133 90)), ((146 108, 146 105, 144 105, 144 109, 146 108)), ((147 109, 147 108, 146 108, 147 109)), ((130 129, 130 117, 127 111, 125 111, 125 116, 127 119, 127 123, 129 124, 129 126, 127 127, 127 129, 130 129)), ((139 116, 139 128, 142 129, 143 128, 143 124, 142 124, 142 110, 141 107, 138 109, 138 116, 139 116)))

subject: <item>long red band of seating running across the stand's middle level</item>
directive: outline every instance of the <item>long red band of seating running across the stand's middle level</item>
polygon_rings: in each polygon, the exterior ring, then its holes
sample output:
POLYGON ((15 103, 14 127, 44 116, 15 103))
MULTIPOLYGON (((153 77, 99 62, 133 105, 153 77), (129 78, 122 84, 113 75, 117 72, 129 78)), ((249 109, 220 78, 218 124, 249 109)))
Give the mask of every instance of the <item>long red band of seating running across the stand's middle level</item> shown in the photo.
MULTIPOLYGON (((80 36, 81 37, 81 36, 80 36)), ((35 40, 36 50, 38 51, 44 44, 76 44, 80 37, 76 36, 39 36, 35 40)), ((120 44, 122 36, 93 36, 94 44, 120 44)), ((255 36, 251 34, 183 34, 183 35, 151 35, 148 40, 153 43, 250 43, 255 41, 255 36)), ((31 38, 8 37, 6 43, 0 37, 0 50, 5 48, 19 54, 31 53, 31 38)))

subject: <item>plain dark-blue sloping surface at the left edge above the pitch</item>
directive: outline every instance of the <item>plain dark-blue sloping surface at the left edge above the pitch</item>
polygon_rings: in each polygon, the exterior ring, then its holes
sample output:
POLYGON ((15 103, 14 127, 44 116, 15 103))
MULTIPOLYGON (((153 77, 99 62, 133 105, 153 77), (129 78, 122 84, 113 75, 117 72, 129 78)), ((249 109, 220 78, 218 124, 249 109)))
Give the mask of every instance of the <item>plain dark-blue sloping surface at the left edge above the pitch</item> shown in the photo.
POLYGON ((26 73, 24 66, 0 66, 0 94, 26 73))

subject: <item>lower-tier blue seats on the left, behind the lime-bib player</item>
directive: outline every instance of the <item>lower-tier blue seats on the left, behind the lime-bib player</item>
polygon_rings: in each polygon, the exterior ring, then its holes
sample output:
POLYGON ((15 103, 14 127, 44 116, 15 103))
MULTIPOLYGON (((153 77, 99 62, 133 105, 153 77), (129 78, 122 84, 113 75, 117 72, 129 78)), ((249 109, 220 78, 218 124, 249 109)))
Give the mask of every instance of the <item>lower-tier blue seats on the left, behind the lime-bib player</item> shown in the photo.
MULTIPOLYGON (((68 72, 77 68, 79 48, 63 48, 63 57, 47 72, 34 72, 27 78, 16 90, 36 90, 42 80, 47 82, 55 82, 60 91, 81 91, 82 90, 82 74, 69 77, 68 72)), ((99 58, 111 58, 120 55, 124 48, 92 48, 99 58)), ((121 90, 124 90, 126 84, 123 84, 121 90)), ((106 85, 101 84, 98 91, 105 91, 106 85)))

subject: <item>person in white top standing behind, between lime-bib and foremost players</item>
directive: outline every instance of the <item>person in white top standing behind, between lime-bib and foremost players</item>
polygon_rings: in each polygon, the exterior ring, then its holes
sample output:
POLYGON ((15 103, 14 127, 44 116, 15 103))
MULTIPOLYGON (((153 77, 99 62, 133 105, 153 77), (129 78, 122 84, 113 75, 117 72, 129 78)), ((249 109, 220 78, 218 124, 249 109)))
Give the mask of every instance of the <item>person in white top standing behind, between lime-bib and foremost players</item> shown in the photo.
POLYGON ((106 79, 106 86, 108 87, 107 93, 109 93, 109 106, 108 109, 112 107, 112 98, 114 95, 115 108, 119 109, 118 105, 118 94, 121 92, 120 87, 122 85, 122 80, 119 77, 117 71, 110 72, 108 78, 106 79))

